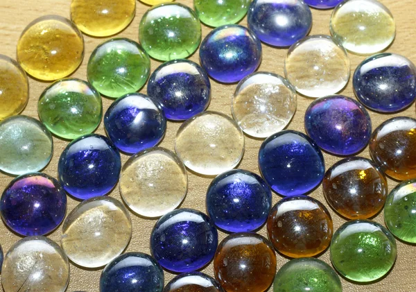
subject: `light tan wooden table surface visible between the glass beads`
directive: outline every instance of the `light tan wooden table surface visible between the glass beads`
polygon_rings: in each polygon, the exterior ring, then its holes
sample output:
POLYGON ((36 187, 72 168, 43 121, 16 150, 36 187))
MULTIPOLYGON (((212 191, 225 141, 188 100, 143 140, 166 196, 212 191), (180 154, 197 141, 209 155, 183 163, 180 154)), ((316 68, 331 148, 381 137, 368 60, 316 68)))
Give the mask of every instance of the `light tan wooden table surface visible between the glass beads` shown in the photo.
MULTIPOLYGON (((98 1, 98 0, 97 0, 98 1)), ((114 0, 116 1, 116 0, 114 0)), ((207 0, 208 1, 208 0, 207 0)), ((179 0, 179 2, 184 3, 188 6, 192 6, 191 0, 179 0)), ((396 19, 397 24, 397 36, 395 42, 387 50, 389 52, 399 53, 406 56, 413 62, 416 62, 416 38, 415 38, 415 12, 416 12, 416 1, 415 0, 381 0, 382 3, 387 6, 396 19)), ((19 40, 19 35, 21 31, 24 30, 26 25, 30 23, 33 19, 41 17, 42 15, 62 15, 69 18, 69 4, 70 0, 0 0, 0 53, 8 55, 11 58, 16 57, 16 46, 17 40, 19 40)), ((139 22, 141 16, 149 7, 144 5, 141 2, 137 2, 137 12, 136 17, 133 19, 132 23, 128 28, 122 31, 118 37, 129 37, 132 40, 138 41, 138 31, 139 31, 139 22)), ((331 16, 331 10, 312 10, 313 12, 313 28, 311 35, 315 34, 329 34, 329 18, 331 16)), ((244 18, 241 21, 242 25, 246 25, 246 19, 244 18)), ((205 37, 207 33, 211 31, 211 28, 202 25, 202 37, 205 37)), ((85 58, 82 65, 78 70, 72 74, 73 77, 81 78, 87 80, 86 69, 87 61, 92 50, 101 42, 107 40, 107 38, 93 38, 84 35, 85 40, 85 58)), ((263 61, 259 70, 269 71, 276 74, 284 75, 283 66, 284 58, 286 55, 287 49, 275 49, 270 46, 263 44, 263 61)), ((352 64, 352 73, 354 69, 365 57, 349 54, 352 64)), ((195 62, 198 61, 198 53, 194 53, 191 60, 195 62)), ((151 60, 151 71, 154 71, 160 62, 151 60)), ((49 83, 42 83, 40 81, 29 78, 30 83, 30 99, 26 109, 22 114, 26 114, 31 117, 37 117, 37 99, 39 98, 42 91, 49 86, 49 83)), ((212 86, 212 99, 211 104, 209 105, 209 110, 216 110, 224 112, 231 116, 231 107, 230 100, 236 85, 222 85, 216 83, 214 80, 211 80, 212 86)), ((146 87, 141 89, 140 92, 146 94, 146 87)), ((346 96, 354 96, 352 91, 352 82, 349 81, 347 87, 343 90, 342 94, 346 96)), ((104 110, 107 110, 109 105, 112 103, 112 99, 103 98, 104 110)), ((295 129, 304 131, 304 112, 308 105, 311 103, 311 99, 298 96, 297 100, 297 112, 295 117, 288 126, 288 129, 295 129)), ((1 105, 0 105, 1 106, 1 105)), ((370 112, 370 111, 369 111, 370 112)), ((394 116, 408 116, 416 117, 415 114, 415 104, 404 112, 399 112, 398 114, 376 114, 370 112, 372 118, 373 129, 376 126, 379 126, 380 123, 386 119, 390 119, 394 116)), ((180 123, 171 123, 168 122, 168 128, 166 136, 162 141, 160 146, 169 148, 173 150, 175 134, 177 128, 179 128, 180 123)), ((103 123, 96 130, 97 133, 105 135, 103 130, 103 123)), ((60 153, 67 146, 68 142, 63 141, 53 137, 54 142, 54 153, 51 163, 44 169, 44 173, 57 177, 57 164, 60 157, 60 153)), ((245 137, 245 154, 243 160, 239 166, 241 169, 248 169, 259 173, 257 166, 257 153, 259 151, 259 146, 261 144, 260 140, 250 139, 245 137)), ((363 152, 359 154, 363 157, 370 158, 368 153, 368 148, 365 148, 363 152)), ((123 162, 128 159, 127 155, 121 155, 123 162)), ((327 169, 333 165, 336 161, 340 160, 339 157, 334 157, 331 155, 324 155, 325 163, 327 169)), ((0 189, 6 187, 6 185, 12 180, 11 176, 0 173, 0 189)), ((211 178, 202 178, 193 173, 189 173, 189 191, 187 197, 182 204, 182 207, 191 207, 194 209, 199 209, 202 212, 205 212, 205 194, 207 187, 211 178)), ((388 180, 389 190, 391 190, 397 182, 393 180, 388 180)), ((121 199, 119 195, 119 188, 116 187, 110 196, 121 199)), ((327 202, 324 200, 322 194, 322 187, 315 189, 312 194, 313 198, 317 198, 322 203, 327 205, 327 202)), ((280 197, 276 194, 273 194, 273 203, 276 203, 280 197)), ((78 204, 78 201, 73 200, 69 197, 68 200, 68 212, 67 214, 78 204)), ((331 209, 331 216, 333 218, 334 230, 338 229, 340 225, 345 223, 343 218, 340 218, 335 214, 331 209)), ((150 254, 149 250, 149 237, 150 231, 152 230, 153 225, 155 225, 155 220, 148 220, 144 218, 139 218, 132 214, 132 225, 133 225, 133 234, 130 244, 126 251, 140 251, 150 254)), ((383 223, 383 214, 379 214, 374 218, 374 221, 377 221, 384 225, 383 223)), ((62 227, 58 227, 58 230, 55 230, 49 237, 59 243, 60 235, 62 232, 62 227)), ((259 232, 263 236, 266 235, 266 228, 263 227, 259 232)), ((225 234, 220 232, 220 239, 223 239, 225 234)), ((10 246, 12 246, 15 241, 19 240, 15 234, 12 234, 8 228, 4 226, 3 223, 0 223, 0 243, 3 246, 3 250, 6 252, 10 246)), ((395 291, 395 292, 412 292, 416 291, 416 246, 406 245, 397 241, 397 261, 394 268, 383 280, 375 282, 373 284, 353 284, 342 280, 343 288, 345 292, 360 291, 360 292, 370 292, 370 291, 395 291)), ((320 256, 320 259, 326 261, 330 264, 329 252, 325 252, 324 255, 320 256)), ((277 267, 280 268, 288 259, 277 255, 277 267)), ((212 275, 212 264, 210 264, 203 272, 212 275)), ((96 292, 98 291, 98 281, 101 275, 101 269, 96 270, 85 270, 78 268, 71 264, 71 280, 69 283, 69 288, 67 291, 88 291, 96 292)), ((165 273, 166 282, 171 280, 173 275, 165 273)), ((270 288, 270 291, 272 289, 270 288)))

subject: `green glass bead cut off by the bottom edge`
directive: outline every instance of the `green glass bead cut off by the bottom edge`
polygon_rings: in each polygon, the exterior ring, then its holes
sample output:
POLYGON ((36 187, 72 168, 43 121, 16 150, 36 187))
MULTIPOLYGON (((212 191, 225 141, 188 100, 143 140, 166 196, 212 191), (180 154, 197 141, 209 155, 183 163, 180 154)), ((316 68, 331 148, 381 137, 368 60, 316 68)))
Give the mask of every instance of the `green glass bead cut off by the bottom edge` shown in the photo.
POLYGON ((313 257, 292 259, 277 272, 273 292, 343 292, 340 277, 313 257))

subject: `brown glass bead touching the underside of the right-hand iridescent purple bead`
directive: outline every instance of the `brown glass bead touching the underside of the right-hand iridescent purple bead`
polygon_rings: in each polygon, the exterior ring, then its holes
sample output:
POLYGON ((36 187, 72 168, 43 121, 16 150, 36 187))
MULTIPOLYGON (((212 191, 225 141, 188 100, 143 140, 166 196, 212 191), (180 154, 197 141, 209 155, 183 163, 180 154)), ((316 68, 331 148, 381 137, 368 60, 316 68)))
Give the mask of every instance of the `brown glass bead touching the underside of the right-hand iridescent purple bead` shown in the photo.
POLYGON ((387 180, 378 166, 363 157, 340 160, 324 175, 322 189, 328 204, 341 216, 367 219, 383 208, 387 180))

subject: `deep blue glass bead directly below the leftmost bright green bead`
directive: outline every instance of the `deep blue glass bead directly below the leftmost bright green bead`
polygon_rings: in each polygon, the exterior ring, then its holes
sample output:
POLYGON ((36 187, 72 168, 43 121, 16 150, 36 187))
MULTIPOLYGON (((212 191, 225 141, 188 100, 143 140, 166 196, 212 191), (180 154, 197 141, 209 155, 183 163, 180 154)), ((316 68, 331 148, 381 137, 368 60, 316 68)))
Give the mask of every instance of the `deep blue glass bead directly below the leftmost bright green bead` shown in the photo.
POLYGON ((62 187, 80 200, 103 196, 117 184, 121 157, 107 137, 89 134, 73 140, 58 162, 62 187))

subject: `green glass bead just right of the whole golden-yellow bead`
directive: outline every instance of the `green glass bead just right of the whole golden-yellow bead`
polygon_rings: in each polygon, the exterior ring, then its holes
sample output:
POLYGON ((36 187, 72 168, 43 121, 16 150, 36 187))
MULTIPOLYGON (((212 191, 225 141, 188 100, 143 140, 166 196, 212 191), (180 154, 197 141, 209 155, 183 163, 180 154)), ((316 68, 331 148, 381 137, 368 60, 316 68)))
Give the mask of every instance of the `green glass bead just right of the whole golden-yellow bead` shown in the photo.
POLYGON ((103 42, 89 57, 89 82, 105 96, 137 92, 150 75, 150 58, 137 42, 117 38, 103 42))

